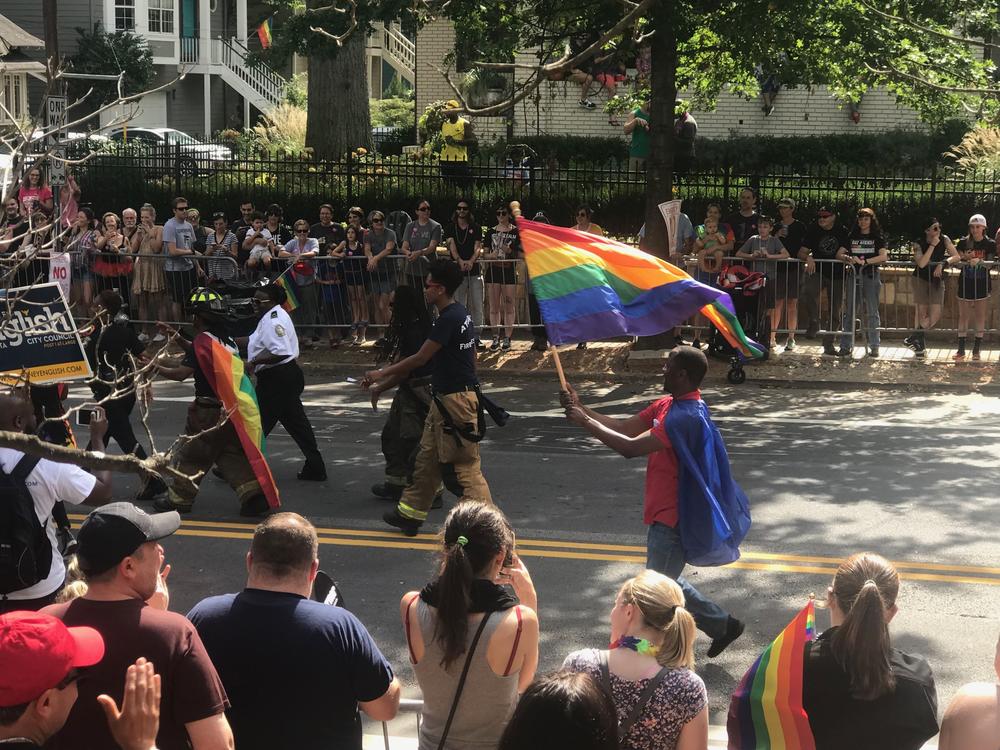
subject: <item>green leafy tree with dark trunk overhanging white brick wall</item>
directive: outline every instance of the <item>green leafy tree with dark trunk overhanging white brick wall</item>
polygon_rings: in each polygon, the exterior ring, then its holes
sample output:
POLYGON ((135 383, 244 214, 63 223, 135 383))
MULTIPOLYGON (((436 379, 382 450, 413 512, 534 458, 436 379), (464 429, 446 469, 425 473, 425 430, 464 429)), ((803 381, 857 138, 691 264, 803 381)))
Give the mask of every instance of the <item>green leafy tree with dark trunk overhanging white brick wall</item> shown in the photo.
POLYGON ((785 83, 827 84, 846 100, 886 86, 930 123, 959 114, 1000 114, 990 54, 1000 51, 995 3, 985 0, 640 0, 623 10, 613 0, 536 3, 450 0, 459 50, 477 50, 481 68, 510 69, 518 51, 537 63, 519 66, 519 86, 505 102, 473 115, 500 114, 546 80, 607 55, 648 45, 651 153, 647 163, 649 247, 667 247, 657 204, 673 196, 674 102, 689 91, 711 107, 724 88, 755 96, 758 66, 785 83), (958 31, 956 31, 958 30, 958 31), (567 40, 573 42, 567 45, 567 40), (986 41, 983 41, 986 40, 986 41))

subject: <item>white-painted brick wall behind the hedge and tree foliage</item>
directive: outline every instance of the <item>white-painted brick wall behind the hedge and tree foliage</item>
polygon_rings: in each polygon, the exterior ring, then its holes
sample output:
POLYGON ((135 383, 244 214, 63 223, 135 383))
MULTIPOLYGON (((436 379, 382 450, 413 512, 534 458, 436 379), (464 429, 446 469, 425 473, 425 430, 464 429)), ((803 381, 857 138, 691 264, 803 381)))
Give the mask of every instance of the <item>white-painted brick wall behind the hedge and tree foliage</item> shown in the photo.
MULTIPOLYGON (((416 100, 421 113, 429 102, 450 99, 451 89, 437 71, 441 61, 455 43, 455 33, 449 21, 433 21, 417 36, 416 100)), ((537 62, 530 54, 518 56, 519 62, 537 62)), ((524 71, 517 76, 523 79, 524 71)), ((571 133, 592 137, 622 134, 624 118, 609 117, 601 108, 604 99, 591 96, 597 103, 593 110, 578 104, 580 87, 571 82, 542 84, 538 96, 530 96, 515 105, 514 135, 554 135, 571 133)), ((861 120, 851 121, 846 107, 841 108, 826 86, 799 87, 783 90, 775 102, 774 111, 765 117, 760 98, 744 97, 723 92, 716 109, 693 112, 698 121, 698 134, 705 138, 728 138, 739 135, 792 136, 829 133, 874 133, 898 128, 922 128, 917 114, 900 107, 885 89, 869 91, 859 111, 861 120)), ((489 142, 506 134, 502 118, 475 120, 480 140, 489 142)))

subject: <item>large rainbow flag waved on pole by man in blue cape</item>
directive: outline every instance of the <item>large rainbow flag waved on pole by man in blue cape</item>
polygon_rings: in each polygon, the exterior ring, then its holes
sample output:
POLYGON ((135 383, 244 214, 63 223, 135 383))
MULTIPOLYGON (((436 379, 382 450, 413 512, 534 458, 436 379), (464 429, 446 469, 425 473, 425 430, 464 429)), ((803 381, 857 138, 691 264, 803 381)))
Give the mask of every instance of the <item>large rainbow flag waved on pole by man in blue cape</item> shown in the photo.
POLYGON ((517 226, 553 344, 653 336, 701 312, 745 358, 764 355, 743 332, 732 299, 721 289, 607 237, 524 219, 517 226))

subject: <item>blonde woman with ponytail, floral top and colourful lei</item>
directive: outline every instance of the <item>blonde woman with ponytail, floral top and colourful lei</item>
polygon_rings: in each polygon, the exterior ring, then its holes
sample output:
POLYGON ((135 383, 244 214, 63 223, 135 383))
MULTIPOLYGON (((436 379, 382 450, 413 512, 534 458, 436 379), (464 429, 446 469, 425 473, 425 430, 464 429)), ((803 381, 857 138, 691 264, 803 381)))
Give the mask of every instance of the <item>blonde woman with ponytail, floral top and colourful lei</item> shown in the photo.
POLYGON ((620 747, 705 750, 708 693, 692 671, 696 635, 681 587, 646 570, 618 591, 610 650, 574 651, 563 668, 604 685, 618 714, 620 747))

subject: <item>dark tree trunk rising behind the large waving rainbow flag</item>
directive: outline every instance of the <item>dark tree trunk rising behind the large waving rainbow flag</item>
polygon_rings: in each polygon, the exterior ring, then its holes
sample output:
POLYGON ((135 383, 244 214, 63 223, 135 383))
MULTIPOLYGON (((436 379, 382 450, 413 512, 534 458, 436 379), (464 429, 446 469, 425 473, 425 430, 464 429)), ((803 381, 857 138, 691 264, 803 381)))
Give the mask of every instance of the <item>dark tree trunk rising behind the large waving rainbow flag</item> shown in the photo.
MULTIPOLYGON (((674 101, 677 99, 677 37, 674 34, 674 3, 659 0, 652 7, 650 37, 650 129, 649 159, 646 163, 646 233, 642 249, 667 258, 670 245, 667 227, 658 208, 673 198, 674 184, 674 101)), ((636 349, 665 349, 673 331, 642 336, 636 349)))

